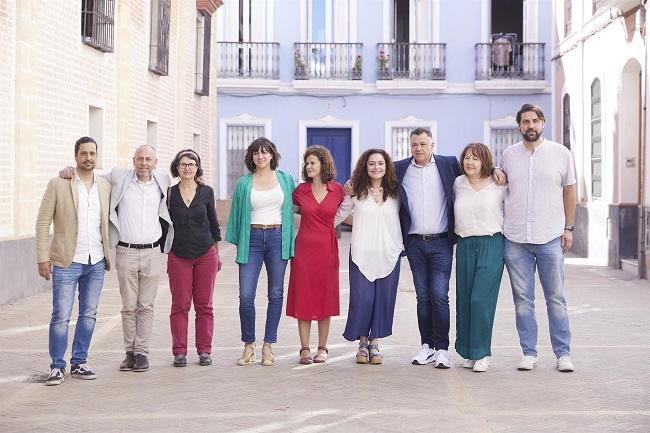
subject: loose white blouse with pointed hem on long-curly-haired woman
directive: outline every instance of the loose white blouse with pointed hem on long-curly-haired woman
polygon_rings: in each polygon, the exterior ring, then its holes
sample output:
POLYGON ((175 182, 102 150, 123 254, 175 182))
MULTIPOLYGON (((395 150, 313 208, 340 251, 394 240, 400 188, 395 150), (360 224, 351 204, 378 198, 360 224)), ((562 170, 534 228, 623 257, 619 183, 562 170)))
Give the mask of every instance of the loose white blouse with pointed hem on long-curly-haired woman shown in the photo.
POLYGON ((378 204, 370 196, 358 200, 346 195, 334 225, 341 223, 353 210, 352 261, 368 281, 384 278, 395 268, 403 249, 399 200, 389 197, 378 204))

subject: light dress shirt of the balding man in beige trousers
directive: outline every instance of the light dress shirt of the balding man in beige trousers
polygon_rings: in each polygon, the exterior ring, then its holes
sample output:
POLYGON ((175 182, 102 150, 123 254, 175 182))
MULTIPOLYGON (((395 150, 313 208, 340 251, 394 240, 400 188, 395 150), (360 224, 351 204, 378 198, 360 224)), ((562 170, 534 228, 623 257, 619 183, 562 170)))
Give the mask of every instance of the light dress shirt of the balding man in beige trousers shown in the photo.
POLYGON ((162 190, 151 176, 141 182, 134 173, 117 205, 120 240, 129 244, 152 244, 162 236, 159 212, 162 190))

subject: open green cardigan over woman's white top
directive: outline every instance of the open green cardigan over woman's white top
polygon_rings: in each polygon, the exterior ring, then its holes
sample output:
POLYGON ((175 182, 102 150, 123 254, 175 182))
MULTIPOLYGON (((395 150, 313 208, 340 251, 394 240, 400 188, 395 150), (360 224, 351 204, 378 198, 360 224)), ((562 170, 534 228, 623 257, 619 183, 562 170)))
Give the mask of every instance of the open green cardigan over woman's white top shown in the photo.
MULTIPOLYGON (((282 259, 293 257, 295 247, 293 222, 293 190, 296 184, 291 175, 281 170, 275 170, 278 182, 284 193, 282 203, 282 259)), ((251 190, 253 189, 253 174, 248 173, 239 178, 232 195, 230 217, 226 227, 226 241, 237 245, 235 262, 248 263, 248 247, 251 237, 251 190)))

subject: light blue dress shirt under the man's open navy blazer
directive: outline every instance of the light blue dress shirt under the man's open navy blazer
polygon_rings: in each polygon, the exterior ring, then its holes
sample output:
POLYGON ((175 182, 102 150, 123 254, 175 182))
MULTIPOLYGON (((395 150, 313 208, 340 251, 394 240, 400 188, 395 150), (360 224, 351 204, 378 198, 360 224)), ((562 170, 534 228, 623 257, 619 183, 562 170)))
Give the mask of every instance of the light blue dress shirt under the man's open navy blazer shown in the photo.
POLYGON ((415 159, 406 169, 402 186, 408 197, 411 227, 409 234, 446 233, 448 225, 445 190, 436 161, 417 165, 415 159))

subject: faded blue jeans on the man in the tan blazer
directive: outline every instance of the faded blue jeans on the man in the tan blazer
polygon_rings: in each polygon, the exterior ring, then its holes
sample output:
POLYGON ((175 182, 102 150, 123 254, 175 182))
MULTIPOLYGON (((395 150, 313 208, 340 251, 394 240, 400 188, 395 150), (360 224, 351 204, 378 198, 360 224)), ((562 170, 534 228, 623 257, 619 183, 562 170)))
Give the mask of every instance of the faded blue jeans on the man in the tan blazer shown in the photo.
POLYGON ((68 324, 72 315, 74 295, 79 287, 79 316, 72 342, 73 365, 83 364, 88 358, 88 346, 95 330, 97 304, 104 285, 104 260, 94 265, 71 263, 67 268, 52 269, 52 319, 50 320, 50 368, 65 368, 68 348, 68 324))

